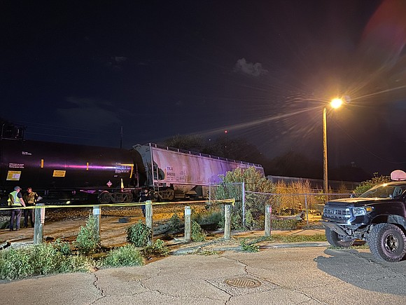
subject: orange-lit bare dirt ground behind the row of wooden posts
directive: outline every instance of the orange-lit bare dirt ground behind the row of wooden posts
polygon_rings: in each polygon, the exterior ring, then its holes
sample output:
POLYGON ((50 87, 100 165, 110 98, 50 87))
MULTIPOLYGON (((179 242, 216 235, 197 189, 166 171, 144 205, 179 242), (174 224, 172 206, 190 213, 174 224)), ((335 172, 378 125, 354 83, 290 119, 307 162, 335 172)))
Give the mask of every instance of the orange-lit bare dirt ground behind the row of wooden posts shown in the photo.
MULTIPOLYGON (((204 205, 195 205, 193 212, 202 212, 204 205)), ((154 239, 165 240, 169 248, 179 248, 182 245, 183 231, 169 232, 169 219, 176 212, 179 217, 183 217, 184 205, 158 205, 153 207, 153 232, 154 239)), ((76 239, 80 226, 84 226, 87 217, 92 212, 92 208, 57 208, 45 209, 45 224, 43 226, 43 238, 45 240, 57 240, 72 242, 76 239)), ((2 219, 7 218, 7 212, 1 211, 2 219), (6 215, 5 215, 6 214, 6 215)), ((101 210, 100 235, 102 247, 113 248, 127 243, 126 229, 133 224, 144 221, 141 207, 103 207, 101 210)), ((314 229, 319 229, 320 225, 317 215, 309 215, 309 224, 314 229)), ((307 226, 307 219, 302 222, 307 226)), ((23 217, 21 226, 23 225, 23 217)), ((207 228, 204 228, 207 230, 207 228)), ((311 231, 309 231, 311 232, 311 231)), ((283 232, 282 232, 283 233, 283 232)), ((314 232, 313 232, 314 233, 314 232)), ((235 238, 246 238, 253 236, 263 236, 263 231, 234 232, 235 238)), ((207 231, 207 240, 218 240, 223 237, 223 231, 207 231)), ((7 243, 25 243, 34 239, 34 228, 22 228, 19 231, 0 230, 0 246, 7 243)))

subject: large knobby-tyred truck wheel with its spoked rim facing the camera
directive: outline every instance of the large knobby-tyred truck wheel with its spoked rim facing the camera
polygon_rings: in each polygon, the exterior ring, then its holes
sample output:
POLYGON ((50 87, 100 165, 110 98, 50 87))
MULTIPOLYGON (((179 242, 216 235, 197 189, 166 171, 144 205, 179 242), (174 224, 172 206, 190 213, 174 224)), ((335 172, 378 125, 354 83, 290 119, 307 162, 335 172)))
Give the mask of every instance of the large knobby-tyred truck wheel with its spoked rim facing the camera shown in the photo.
POLYGON ((395 224, 377 224, 368 238, 374 257, 399 262, 406 254, 406 236, 395 224))

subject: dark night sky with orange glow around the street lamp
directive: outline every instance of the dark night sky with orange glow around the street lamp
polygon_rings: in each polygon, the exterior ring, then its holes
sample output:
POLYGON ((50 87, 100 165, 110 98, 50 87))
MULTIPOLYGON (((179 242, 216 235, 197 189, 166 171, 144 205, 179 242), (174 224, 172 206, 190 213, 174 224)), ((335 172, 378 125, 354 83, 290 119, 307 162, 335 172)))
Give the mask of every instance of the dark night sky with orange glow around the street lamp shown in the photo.
POLYGON ((323 107, 346 96, 328 108, 329 168, 406 170, 404 0, 2 1, 0 26, 0 116, 27 138, 228 130, 322 163, 323 107))

